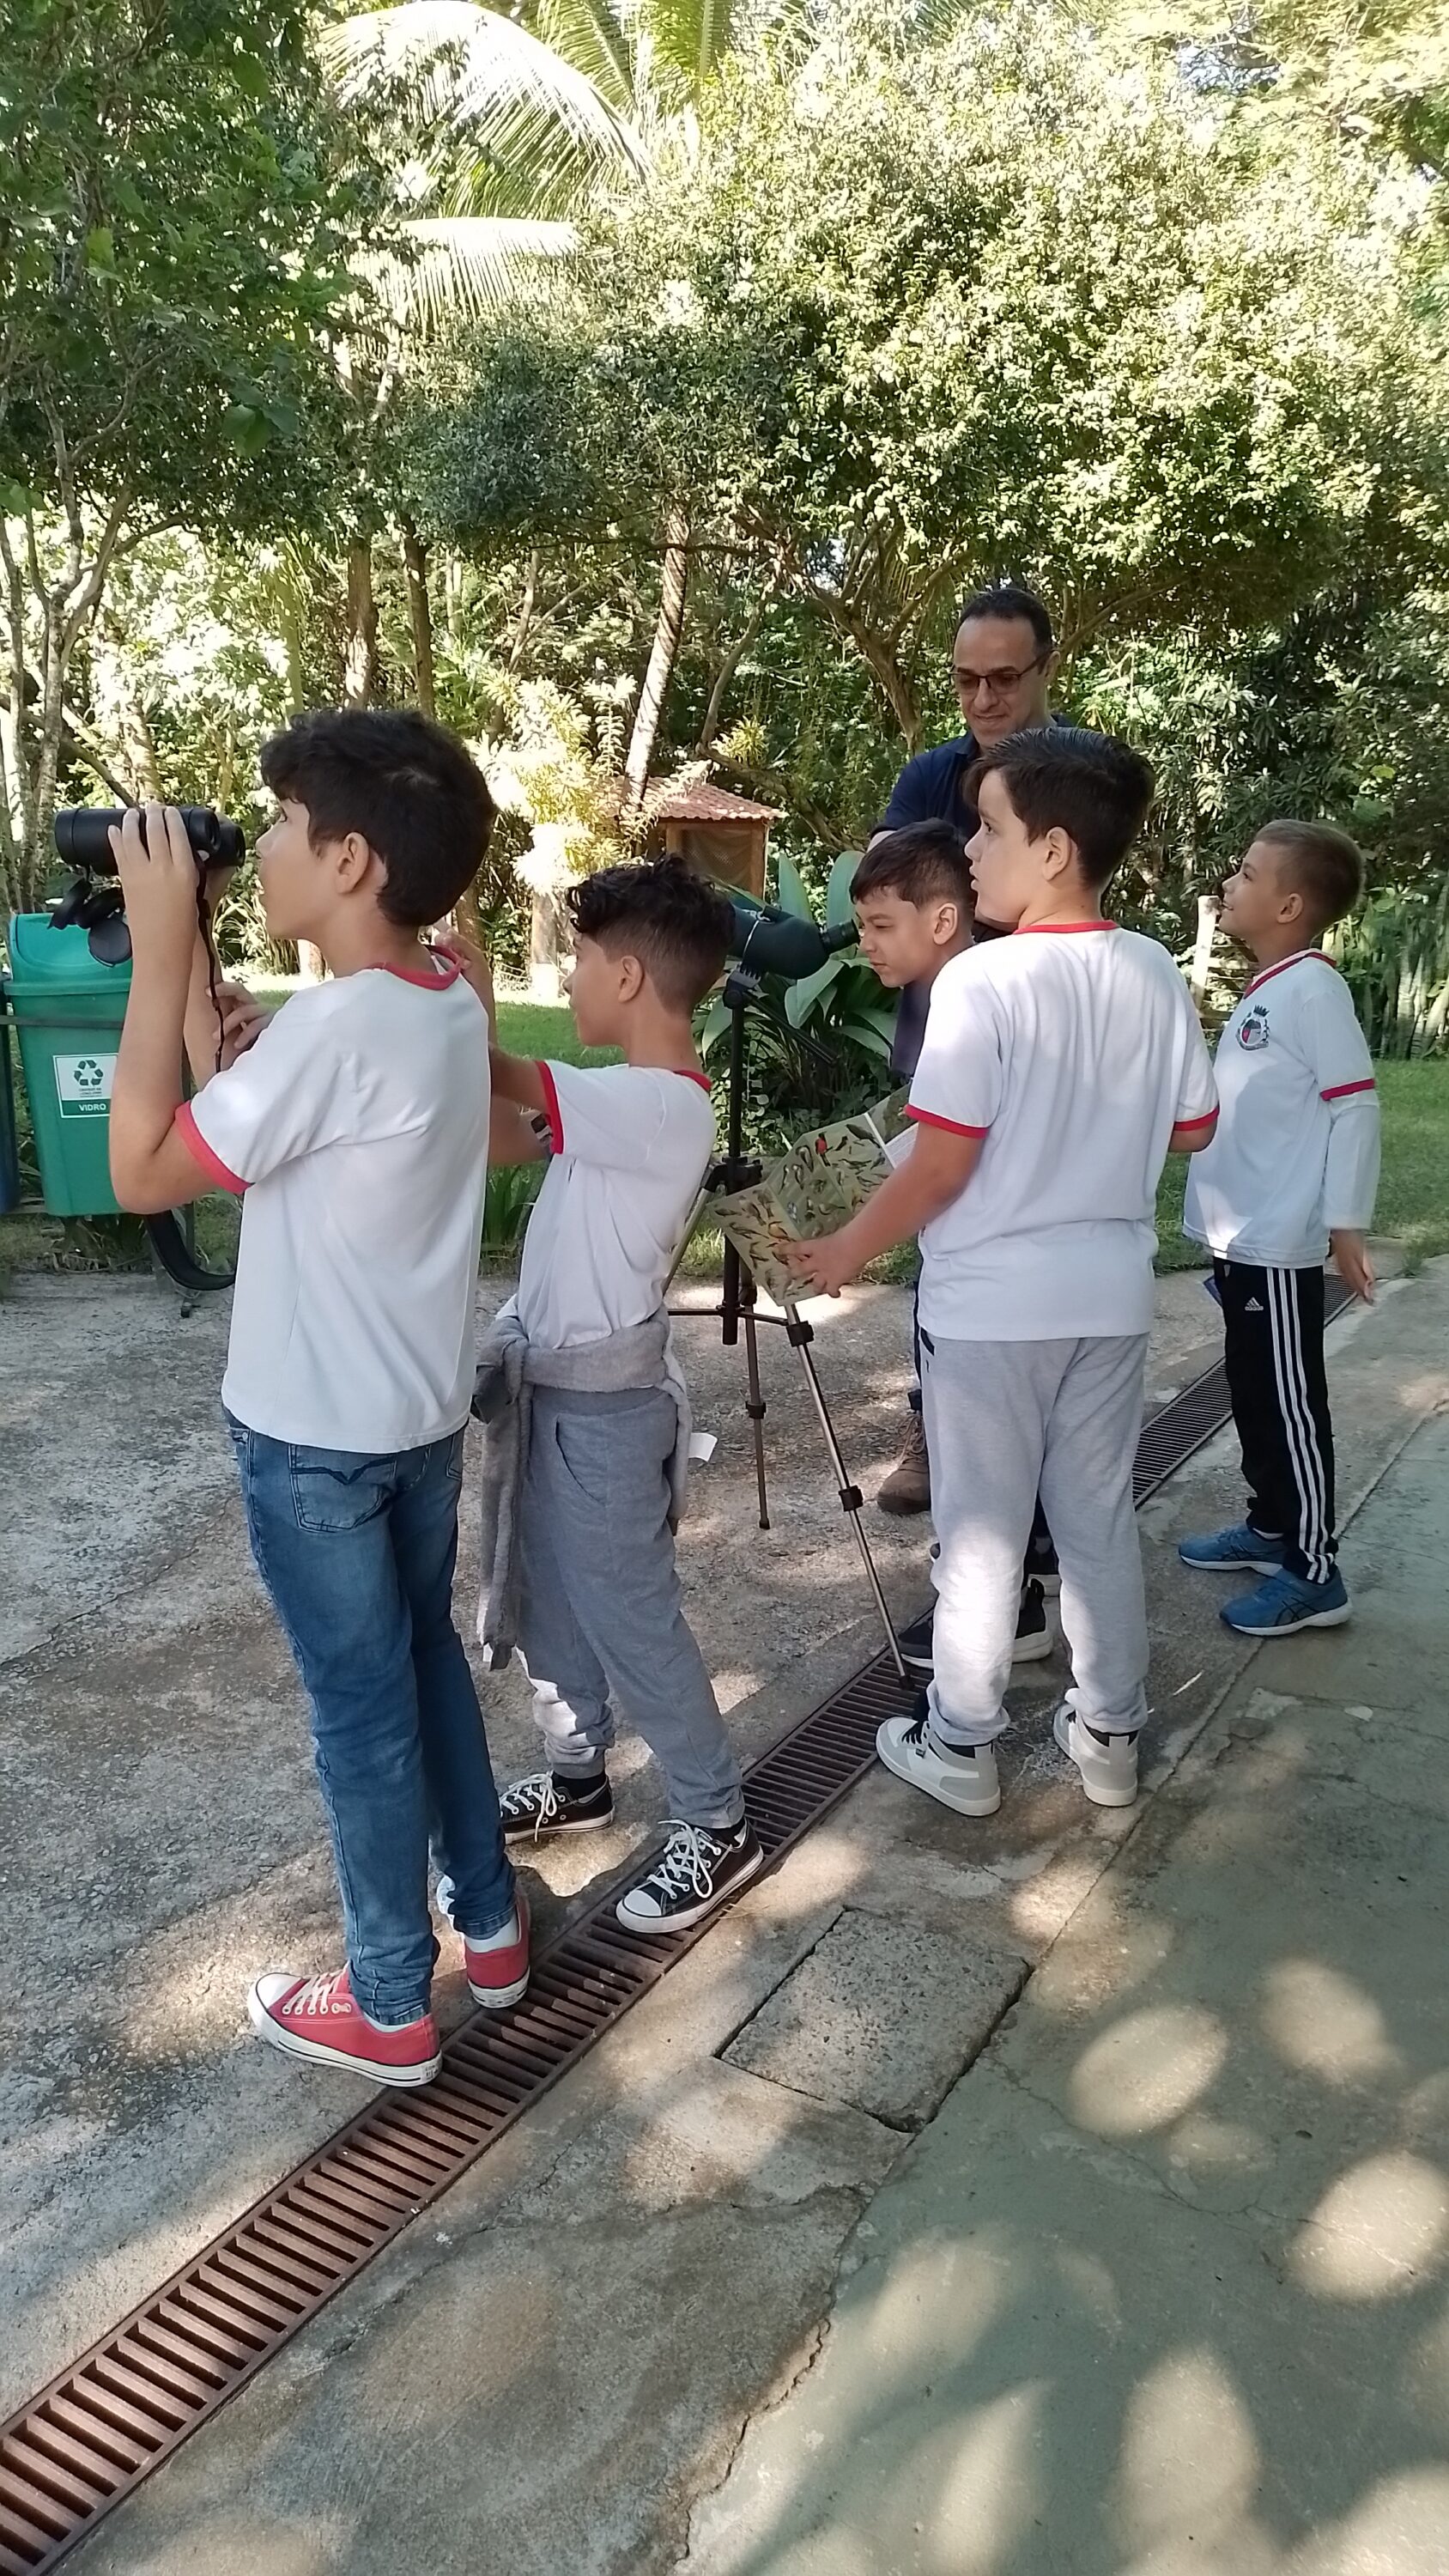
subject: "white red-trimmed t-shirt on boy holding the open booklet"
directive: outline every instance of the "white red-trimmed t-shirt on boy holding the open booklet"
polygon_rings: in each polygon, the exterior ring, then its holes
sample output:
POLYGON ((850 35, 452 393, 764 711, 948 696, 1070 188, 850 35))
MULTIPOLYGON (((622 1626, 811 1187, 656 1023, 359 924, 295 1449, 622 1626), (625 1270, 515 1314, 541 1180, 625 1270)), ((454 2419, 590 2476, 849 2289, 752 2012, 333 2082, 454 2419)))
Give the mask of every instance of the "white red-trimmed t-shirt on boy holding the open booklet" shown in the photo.
POLYGON ((921 1229, 921 1324, 957 1342, 1145 1332, 1174 1126, 1217 1115, 1212 1059, 1166 948, 1112 922, 1019 930, 950 958, 909 1115, 981 1136, 921 1229))

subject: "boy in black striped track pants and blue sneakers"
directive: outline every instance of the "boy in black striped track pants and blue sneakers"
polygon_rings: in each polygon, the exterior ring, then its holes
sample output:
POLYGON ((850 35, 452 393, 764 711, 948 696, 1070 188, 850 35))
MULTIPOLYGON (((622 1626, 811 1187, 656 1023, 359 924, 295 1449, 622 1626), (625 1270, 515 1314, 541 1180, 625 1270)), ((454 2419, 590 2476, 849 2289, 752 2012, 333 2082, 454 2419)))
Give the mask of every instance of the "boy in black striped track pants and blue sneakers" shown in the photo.
POLYGON ((1318 940, 1354 909, 1364 860, 1331 824, 1269 822, 1223 889, 1223 930, 1259 963, 1217 1041, 1217 1133, 1192 1167, 1184 1234, 1212 1252, 1248 1517, 1184 1538, 1184 1566, 1256 1571, 1223 1605, 1243 1636, 1338 1628, 1323 1262, 1374 1293, 1364 1234, 1380 1095, 1354 997, 1318 940))

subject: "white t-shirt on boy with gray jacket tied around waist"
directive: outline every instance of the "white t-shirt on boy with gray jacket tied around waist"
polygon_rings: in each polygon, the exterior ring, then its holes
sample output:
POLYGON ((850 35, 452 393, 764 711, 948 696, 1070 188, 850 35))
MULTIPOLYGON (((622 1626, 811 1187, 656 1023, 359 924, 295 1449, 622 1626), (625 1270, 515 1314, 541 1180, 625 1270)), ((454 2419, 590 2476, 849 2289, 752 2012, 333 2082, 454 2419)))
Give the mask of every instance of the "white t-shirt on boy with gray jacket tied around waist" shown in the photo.
POLYGON ((571 1350, 659 1311, 715 1146, 703 1074, 543 1064, 553 1159, 522 1236, 517 1316, 571 1350))

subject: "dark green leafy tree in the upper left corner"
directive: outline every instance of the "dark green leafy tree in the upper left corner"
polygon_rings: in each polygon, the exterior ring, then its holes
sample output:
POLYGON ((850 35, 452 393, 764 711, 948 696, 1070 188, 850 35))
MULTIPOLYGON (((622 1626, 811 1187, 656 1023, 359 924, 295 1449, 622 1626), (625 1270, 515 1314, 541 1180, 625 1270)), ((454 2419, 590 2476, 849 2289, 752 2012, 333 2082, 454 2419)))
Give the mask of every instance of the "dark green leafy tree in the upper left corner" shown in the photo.
POLYGON ((0 139, 8 721, 0 835, 36 899, 67 685, 111 567, 162 528, 324 515, 329 337, 365 196, 306 77, 306 0, 15 0, 0 139))

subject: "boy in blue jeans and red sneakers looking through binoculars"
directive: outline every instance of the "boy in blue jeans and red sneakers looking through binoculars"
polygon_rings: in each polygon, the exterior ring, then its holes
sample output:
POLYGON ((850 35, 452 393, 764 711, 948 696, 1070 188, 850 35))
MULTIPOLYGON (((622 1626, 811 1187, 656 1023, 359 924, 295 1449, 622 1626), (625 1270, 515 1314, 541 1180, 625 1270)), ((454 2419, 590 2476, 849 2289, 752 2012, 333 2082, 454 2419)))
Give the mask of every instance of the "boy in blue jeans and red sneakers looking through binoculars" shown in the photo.
POLYGON ((311 1698, 347 1965, 260 1976, 250 2014, 291 2056, 381 2084, 440 2066, 430 1824, 474 1999, 517 2002, 515 1893, 479 1698, 453 1628, 463 1425, 489 1144, 489 1030, 422 927, 479 871, 484 778, 412 714, 299 716, 263 750, 281 817, 257 842, 275 940, 327 984, 183 1105, 196 863, 178 814, 113 832, 134 981, 111 1103, 121 1206, 245 1190, 224 1404, 247 1530, 311 1698))

